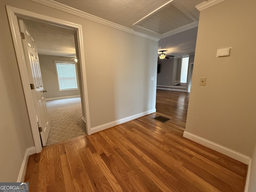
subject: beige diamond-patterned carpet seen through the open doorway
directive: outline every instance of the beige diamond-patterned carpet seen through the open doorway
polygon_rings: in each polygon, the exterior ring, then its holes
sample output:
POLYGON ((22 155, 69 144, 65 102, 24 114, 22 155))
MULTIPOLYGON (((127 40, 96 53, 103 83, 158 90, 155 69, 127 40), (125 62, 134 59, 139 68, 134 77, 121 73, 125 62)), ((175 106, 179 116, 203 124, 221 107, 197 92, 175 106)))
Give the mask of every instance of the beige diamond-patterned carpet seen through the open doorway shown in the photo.
POLYGON ((46 146, 86 134, 80 97, 46 101, 50 133, 46 146))

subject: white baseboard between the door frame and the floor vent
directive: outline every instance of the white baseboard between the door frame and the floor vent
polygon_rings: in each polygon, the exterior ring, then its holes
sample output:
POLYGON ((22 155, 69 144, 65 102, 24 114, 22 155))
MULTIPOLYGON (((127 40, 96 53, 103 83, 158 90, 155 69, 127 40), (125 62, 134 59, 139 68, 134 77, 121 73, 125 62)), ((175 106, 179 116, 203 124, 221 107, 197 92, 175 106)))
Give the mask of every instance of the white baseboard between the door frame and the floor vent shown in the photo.
POLYGON ((110 123, 106 123, 104 125, 100 125, 100 126, 91 128, 91 133, 93 134, 93 133, 102 131, 104 129, 114 127, 116 125, 119 125, 119 124, 122 124, 122 123, 125 123, 125 122, 128 122, 128 121, 140 118, 142 116, 145 116, 145 115, 148 115, 148 114, 151 114, 151 113, 154 113, 154 112, 156 112, 156 109, 148 110, 148 111, 145 111, 145 112, 142 112, 142 113, 139 113, 139 114, 135 114, 135 115, 132 115, 132 116, 129 116, 129 117, 126 117, 126 118, 122 118, 122 119, 119 119, 119 120, 116 120, 116 121, 113 121, 113 122, 110 122, 110 123))

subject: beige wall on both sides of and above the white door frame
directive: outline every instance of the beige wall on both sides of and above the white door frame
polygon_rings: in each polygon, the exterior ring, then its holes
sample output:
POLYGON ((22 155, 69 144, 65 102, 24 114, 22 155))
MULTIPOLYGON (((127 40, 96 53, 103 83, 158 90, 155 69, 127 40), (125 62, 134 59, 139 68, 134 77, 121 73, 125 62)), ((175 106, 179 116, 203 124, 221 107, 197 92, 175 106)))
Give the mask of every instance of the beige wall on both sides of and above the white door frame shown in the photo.
POLYGON ((155 109, 158 42, 29 0, 2 0, 1 181, 17 180, 25 149, 34 145, 5 5, 82 25, 92 127, 155 109), (100 56, 94 58, 96 51, 100 56), (151 76, 155 77, 154 81, 151 76))

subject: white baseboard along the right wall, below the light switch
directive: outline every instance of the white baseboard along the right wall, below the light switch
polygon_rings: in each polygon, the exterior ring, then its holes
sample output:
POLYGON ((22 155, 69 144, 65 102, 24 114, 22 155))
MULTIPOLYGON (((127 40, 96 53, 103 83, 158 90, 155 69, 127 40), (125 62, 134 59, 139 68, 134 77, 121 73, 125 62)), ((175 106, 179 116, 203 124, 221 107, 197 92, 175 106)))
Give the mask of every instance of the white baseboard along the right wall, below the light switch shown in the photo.
POLYGON ((206 139, 204 139, 202 137, 196 136, 196 135, 191 134, 191 133, 186 132, 186 131, 184 131, 183 137, 188 138, 188 139, 190 139, 190 140, 192 140, 194 142, 197 142, 199 144, 202 144, 202 145, 204 145, 204 146, 206 146, 208 148, 211 148, 213 150, 216 150, 216 151, 218 151, 218 152, 220 152, 220 153, 222 153, 222 154, 224 154, 226 156, 229 156, 229 157, 231 157, 231 158, 233 158, 235 160, 238 160, 238 161, 240 161, 240 162, 242 162, 242 163, 244 163, 246 165, 248 165, 250 163, 250 159, 251 159, 250 157, 245 156, 245 155, 243 155, 241 153, 238 153, 238 152, 236 152, 234 150, 231 150, 229 148, 226 148, 224 146, 221 146, 219 144, 216 144, 214 142, 211 142, 209 140, 206 140, 206 139))

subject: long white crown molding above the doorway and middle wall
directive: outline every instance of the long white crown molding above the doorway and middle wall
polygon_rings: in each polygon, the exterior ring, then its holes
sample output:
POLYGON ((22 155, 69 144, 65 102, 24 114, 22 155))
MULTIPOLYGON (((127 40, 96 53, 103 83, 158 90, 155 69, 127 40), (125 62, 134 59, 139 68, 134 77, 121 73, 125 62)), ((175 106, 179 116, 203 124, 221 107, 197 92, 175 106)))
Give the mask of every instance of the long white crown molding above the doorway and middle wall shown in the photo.
POLYGON ((128 32, 128 33, 131 33, 131 34, 143 37, 143 38, 147 38, 147 39, 150 39, 150 40, 153 40, 153 41, 156 41, 156 42, 158 42, 160 40, 160 38, 156 38, 156 37, 153 37, 153 36, 135 31, 135 30, 130 29, 128 27, 124 27, 122 25, 119 25, 119 24, 110 22, 108 20, 96 17, 94 15, 88 14, 86 12, 80 11, 80 10, 72 8, 70 6, 66 6, 66 5, 61 4, 59 2, 55 2, 53 0, 30 0, 30 1, 37 2, 37 3, 40 3, 42 5, 45 5, 45 6, 57 9, 57 10, 61 10, 63 12, 66 12, 66 13, 84 18, 84 19, 88 19, 88 20, 91 20, 91 21, 94 21, 94 22, 97 22, 97 23, 100 23, 100 24, 103 24, 103 25, 106 25, 106 26, 124 31, 124 32, 128 32))

